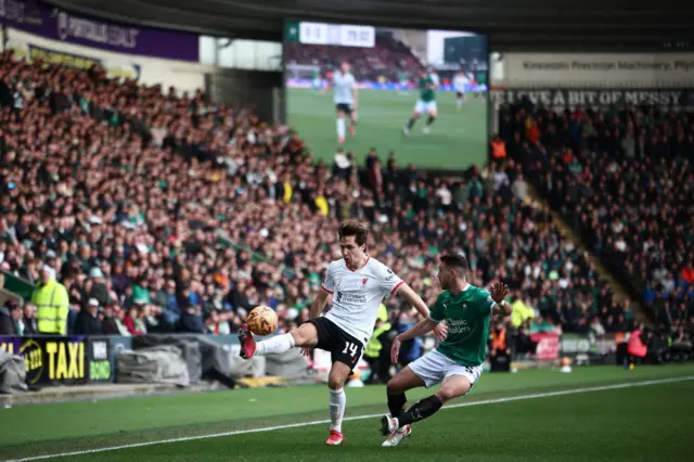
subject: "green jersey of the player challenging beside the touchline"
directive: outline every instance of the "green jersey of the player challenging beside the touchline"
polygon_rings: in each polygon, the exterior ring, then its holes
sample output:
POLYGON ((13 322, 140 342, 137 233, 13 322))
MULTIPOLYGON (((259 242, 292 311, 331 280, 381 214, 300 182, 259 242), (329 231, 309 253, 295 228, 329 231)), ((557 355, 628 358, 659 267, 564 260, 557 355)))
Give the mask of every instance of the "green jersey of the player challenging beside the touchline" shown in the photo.
POLYGON ((487 356, 493 306, 489 292, 474 285, 457 295, 441 292, 429 312, 432 320, 448 324, 448 336, 439 344, 438 352, 462 365, 481 364, 487 356))

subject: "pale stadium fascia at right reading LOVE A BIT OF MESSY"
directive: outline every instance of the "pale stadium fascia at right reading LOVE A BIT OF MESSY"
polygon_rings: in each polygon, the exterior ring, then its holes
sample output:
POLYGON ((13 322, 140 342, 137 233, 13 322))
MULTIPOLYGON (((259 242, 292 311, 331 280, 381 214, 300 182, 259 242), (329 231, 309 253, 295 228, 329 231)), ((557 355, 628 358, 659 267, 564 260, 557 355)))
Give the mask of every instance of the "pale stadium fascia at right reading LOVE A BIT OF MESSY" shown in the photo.
POLYGON ((491 53, 490 127, 502 104, 556 111, 650 104, 694 107, 694 53, 491 53))

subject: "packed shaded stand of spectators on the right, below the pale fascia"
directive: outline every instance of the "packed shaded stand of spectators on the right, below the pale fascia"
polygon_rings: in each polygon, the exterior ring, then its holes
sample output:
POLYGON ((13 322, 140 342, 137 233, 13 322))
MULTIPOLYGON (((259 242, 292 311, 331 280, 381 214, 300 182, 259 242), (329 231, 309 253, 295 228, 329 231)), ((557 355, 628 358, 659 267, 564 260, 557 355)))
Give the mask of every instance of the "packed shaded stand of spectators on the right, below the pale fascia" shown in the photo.
POLYGON ((526 101, 503 108, 500 127, 512 157, 657 328, 672 342, 694 333, 694 114, 526 101))

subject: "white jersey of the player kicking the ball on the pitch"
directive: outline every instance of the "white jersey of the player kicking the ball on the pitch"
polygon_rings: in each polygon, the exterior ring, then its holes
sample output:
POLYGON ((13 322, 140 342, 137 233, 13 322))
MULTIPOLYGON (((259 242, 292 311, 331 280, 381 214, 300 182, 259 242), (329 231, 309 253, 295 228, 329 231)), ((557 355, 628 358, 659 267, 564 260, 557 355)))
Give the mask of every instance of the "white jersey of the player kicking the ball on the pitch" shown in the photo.
POLYGON ((398 292, 404 282, 375 258, 352 271, 344 259, 330 264, 322 288, 333 294, 333 307, 325 318, 352 337, 369 343, 386 297, 398 292))

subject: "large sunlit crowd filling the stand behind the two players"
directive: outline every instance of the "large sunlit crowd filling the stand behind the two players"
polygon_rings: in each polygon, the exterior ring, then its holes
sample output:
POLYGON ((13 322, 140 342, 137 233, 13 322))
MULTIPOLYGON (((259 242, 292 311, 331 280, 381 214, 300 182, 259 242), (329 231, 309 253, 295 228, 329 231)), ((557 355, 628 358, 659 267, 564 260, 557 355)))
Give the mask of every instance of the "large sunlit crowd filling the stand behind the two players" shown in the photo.
MULTIPOLYGON (((519 352, 535 332, 631 329, 629 301, 528 200, 513 159, 460 177, 375 152, 362 168, 345 152, 325 166, 290 128, 200 92, 177 98, 10 52, 0 80, 0 270, 37 293, 64 287, 69 321, 55 333, 224 334, 259 304, 291 330, 339 258, 346 218, 371 222, 371 255, 425 300, 440 251, 467 256, 472 283, 501 277, 519 352)), ((416 322, 397 297, 386 303, 393 332, 416 322)), ((3 333, 42 331, 34 305, 2 308, 16 320, 3 333)), ((421 352, 412 342, 401 357, 421 352)))

